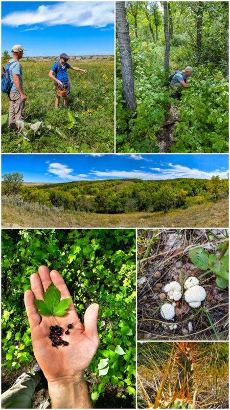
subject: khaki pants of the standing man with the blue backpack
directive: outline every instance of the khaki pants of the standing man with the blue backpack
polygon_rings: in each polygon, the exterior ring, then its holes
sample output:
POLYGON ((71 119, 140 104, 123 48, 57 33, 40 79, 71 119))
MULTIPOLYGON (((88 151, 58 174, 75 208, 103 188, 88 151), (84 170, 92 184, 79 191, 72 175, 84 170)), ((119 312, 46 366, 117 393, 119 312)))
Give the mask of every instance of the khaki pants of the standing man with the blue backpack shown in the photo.
POLYGON ((10 93, 10 111, 9 111, 9 128, 20 131, 21 127, 16 121, 24 121, 25 118, 25 101, 21 101, 20 93, 10 93))

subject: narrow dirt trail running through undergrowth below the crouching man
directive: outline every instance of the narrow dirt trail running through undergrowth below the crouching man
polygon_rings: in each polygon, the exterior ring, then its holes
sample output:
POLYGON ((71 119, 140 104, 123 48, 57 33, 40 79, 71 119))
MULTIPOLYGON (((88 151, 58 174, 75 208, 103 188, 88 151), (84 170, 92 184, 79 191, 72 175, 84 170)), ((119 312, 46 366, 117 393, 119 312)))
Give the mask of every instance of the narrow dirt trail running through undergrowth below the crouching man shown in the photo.
POLYGON ((166 109, 166 116, 165 116, 165 127, 159 131, 157 138, 158 138, 158 146, 160 152, 170 152, 170 147, 175 144, 173 138, 173 130, 175 128, 175 122, 178 120, 178 111, 177 107, 170 104, 166 109), (169 122, 169 126, 167 126, 167 122, 169 122), (172 124, 171 124, 172 122, 172 124))

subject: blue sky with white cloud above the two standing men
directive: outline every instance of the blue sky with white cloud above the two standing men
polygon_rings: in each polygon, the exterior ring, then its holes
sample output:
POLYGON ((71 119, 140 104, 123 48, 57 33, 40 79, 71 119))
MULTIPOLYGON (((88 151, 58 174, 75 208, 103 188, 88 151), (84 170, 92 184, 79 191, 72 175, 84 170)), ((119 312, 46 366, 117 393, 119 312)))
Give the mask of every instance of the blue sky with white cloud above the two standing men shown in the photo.
POLYGON ((113 2, 2 2, 2 52, 114 54, 113 2))

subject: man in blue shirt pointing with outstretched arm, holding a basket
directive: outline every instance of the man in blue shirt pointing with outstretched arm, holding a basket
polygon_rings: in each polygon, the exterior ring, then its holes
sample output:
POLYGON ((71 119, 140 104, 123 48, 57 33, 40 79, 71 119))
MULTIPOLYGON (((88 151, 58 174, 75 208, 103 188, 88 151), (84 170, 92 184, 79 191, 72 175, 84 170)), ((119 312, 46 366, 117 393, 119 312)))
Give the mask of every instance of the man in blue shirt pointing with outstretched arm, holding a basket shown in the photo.
MULTIPOLYGON (((60 88, 63 88, 63 85, 65 85, 65 89, 67 90, 67 95, 64 98, 64 108, 67 108, 67 99, 70 96, 70 82, 68 80, 68 75, 67 75, 67 69, 71 69, 74 71, 82 71, 83 73, 87 73, 87 70, 82 70, 81 68, 78 67, 72 67, 70 64, 67 63, 67 60, 69 60, 70 57, 62 53, 60 55, 59 61, 54 63, 52 69, 49 72, 49 77, 52 78, 56 82, 56 89, 59 86, 60 88)), ((58 108, 59 106, 59 100, 60 97, 58 96, 56 92, 56 99, 55 99, 55 108, 58 108)))

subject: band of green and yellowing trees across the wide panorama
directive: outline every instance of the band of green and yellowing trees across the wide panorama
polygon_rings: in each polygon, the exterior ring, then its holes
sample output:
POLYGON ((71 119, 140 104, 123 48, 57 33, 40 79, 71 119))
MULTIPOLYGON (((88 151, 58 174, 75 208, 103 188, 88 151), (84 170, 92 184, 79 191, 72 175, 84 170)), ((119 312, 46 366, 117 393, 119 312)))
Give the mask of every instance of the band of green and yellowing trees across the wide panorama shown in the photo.
POLYGON ((177 178, 170 180, 110 179, 25 186, 21 174, 5 174, 3 195, 68 211, 122 214, 168 212, 228 196, 228 180, 177 178), (13 177, 12 177, 13 176, 13 177), (15 178, 16 177, 16 178, 15 178), (15 181, 16 182, 15 182, 15 181))

